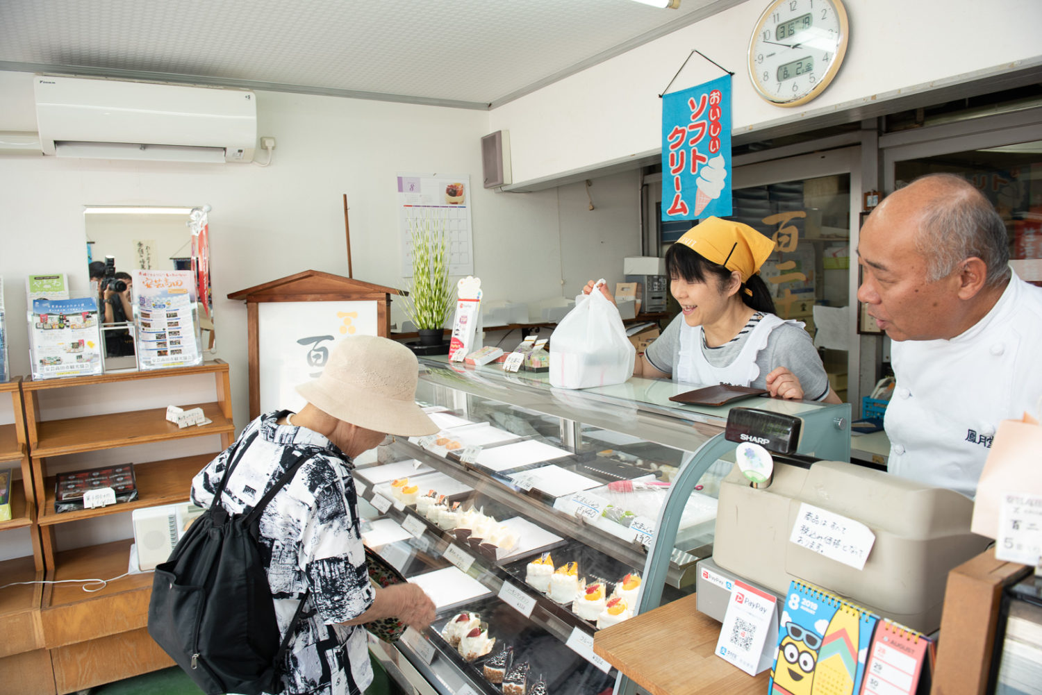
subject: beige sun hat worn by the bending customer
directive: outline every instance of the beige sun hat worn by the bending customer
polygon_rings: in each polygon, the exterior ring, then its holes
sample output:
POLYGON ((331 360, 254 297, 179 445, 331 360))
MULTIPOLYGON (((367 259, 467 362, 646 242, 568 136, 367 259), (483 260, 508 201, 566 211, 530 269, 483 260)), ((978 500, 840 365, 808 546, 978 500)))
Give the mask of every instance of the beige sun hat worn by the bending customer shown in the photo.
POLYGON ((333 346, 322 375, 297 393, 324 413, 387 435, 420 437, 439 427, 416 404, 419 364, 401 343, 376 336, 333 346))

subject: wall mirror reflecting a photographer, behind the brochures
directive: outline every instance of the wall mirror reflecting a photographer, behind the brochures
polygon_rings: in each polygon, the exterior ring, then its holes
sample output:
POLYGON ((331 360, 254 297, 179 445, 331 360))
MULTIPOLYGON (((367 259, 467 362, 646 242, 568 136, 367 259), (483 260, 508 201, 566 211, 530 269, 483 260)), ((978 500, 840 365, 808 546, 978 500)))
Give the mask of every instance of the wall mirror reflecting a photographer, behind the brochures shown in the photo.
MULTIPOLYGON (((196 274, 199 290, 198 316, 204 350, 216 344, 213 293, 209 284, 209 244, 206 214, 209 205, 198 207, 111 206, 88 205, 83 209, 86 235, 86 263, 92 289, 104 297, 116 292, 126 293, 127 275, 134 270, 187 270, 196 274), (96 274, 108 258, 115 277, 99 282, 96 274), (124 275, 126 273, 127 275, 124 275)), ((114 302, 115 316, 104 330, 105 366, 132 367, 134 363, 132 331, 122 324, 119 302, 114 302), (126 363, 126 364, 124 364, 126 363)), ((105 305, 102 303, 103 311, 105 305)), ((126 315, 126 320, 132 320, 126 315)))

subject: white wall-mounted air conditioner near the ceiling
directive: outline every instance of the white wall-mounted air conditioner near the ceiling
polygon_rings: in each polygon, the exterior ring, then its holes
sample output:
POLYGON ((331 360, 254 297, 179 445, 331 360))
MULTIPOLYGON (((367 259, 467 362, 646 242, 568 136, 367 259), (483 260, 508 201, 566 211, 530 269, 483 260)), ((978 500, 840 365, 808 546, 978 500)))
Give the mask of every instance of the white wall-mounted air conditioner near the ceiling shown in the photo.
POLYGON ((101 159, 251 162, 256 95, 247 90, 36 75, 44 154, 101 159))

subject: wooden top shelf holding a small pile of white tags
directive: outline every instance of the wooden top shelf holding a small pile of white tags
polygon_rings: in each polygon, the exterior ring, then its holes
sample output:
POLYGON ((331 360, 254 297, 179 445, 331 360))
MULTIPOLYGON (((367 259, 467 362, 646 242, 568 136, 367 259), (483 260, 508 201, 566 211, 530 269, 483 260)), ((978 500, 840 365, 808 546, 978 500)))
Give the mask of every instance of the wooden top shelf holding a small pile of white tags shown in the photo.
POLYGON ((214 422, 178 428, 174 423, 167 422, 165 407, 47 420, 35 424, 36 443, 31 446, 32 457, 98 451, 205 435, 230 435, 235 430, 234 423, 224 417, 220 403, 196 403, 183 407, 201 407, 203 414, 214 422))

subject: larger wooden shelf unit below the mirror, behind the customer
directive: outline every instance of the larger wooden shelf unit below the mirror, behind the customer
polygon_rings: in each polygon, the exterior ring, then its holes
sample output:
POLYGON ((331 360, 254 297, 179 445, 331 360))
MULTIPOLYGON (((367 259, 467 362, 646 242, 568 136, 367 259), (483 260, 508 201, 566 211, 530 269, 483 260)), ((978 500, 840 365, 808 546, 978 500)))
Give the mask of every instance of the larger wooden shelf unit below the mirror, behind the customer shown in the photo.
MULTIPOLYGON (((126 573, 132 540, 58 551, 55 528, 59 524, 76 524, 139 507, 188 501, 192 478, 217 452, 138 464, 134 466, 137 500, 61 514, 54 511, 54 477, 48 475, 50 458, 209 435, 220 436, 223 449, 230 446, 234 435, 228 365, 222 362, 147 372, 24 381, 22 392, 28 457, 38 500, 36 520, 42 546, 38 560, 42 555, 48 580, 109 579, 126 573), (73 400, 79 395, 76 390, 81 387, 104 389, 120 382, 178 379, 200 374, 214 376, 214 402, 179 402, 176 382, 156 383, 152 388, 160 392, 170 389, 171 404, 202 407, 206 417, 213 420, 207 425, 179 429, 167 422, 165 407, 47 420, 47 413, 42 412, 40 404, 39 395, 44 391, 67 391, 63 396, 73 400), (114 423, 119 425, 114 426, 114 423)), ((45 585, 39 592, 36 623, 42 646, 49 650, 53 666, 54 680, 49 692, 69 693, 173 665, 173 660, 146 631, 152 576, 150 572, 131 574, 109 581, 94 593, 85 593, 81 584, 45 585)))

